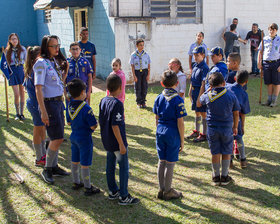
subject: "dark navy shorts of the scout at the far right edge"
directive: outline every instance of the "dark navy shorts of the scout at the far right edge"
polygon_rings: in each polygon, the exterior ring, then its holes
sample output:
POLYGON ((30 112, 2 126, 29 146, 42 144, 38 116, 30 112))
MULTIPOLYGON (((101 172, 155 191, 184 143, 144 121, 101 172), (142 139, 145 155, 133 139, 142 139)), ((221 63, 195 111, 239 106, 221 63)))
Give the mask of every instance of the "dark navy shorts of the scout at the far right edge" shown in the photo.
POLYGON ((263 61, 264 84, 280 85, 280 73, 277 71, 280 66, 280 60, 274 62, 263 61))

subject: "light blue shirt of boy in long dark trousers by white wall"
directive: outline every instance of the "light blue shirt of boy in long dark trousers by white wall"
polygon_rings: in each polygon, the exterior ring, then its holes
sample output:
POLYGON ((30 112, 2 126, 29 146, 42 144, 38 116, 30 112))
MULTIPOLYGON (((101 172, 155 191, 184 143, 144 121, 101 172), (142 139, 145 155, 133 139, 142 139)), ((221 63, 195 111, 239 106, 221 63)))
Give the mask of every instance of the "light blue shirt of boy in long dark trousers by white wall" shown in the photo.
POLYGON ((148 68, 149 64, 151 64, 151 59, 146 51, 143 50, 139 53, 136 50, 131 54, 129 63, 134 65, 135 70, 142 70, 148 68))

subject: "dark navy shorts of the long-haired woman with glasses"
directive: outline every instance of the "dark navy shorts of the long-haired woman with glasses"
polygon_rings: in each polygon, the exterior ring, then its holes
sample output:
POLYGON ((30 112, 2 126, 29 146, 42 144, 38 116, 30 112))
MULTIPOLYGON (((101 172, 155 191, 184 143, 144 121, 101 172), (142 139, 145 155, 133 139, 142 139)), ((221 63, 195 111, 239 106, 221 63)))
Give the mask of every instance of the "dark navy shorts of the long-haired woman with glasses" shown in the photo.
POLYGON ((50 140, 64 138, 64 104, 62 101, 44 101, 49 115, 49 126, 46 126, 50 140))

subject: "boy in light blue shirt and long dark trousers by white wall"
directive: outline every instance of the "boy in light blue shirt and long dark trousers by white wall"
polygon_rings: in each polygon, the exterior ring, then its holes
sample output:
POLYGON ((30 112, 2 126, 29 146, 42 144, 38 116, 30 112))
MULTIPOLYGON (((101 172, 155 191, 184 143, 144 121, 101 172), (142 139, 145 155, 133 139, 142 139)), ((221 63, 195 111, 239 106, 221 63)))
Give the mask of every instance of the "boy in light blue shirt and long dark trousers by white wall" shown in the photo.
POLYGON ((146 108, 151 59, 148 53, 144 51, 143 39, 136 41, 136 47, 137 50, 130 57, 131 71, 135 82, 136 103, 138 108, 146 108))

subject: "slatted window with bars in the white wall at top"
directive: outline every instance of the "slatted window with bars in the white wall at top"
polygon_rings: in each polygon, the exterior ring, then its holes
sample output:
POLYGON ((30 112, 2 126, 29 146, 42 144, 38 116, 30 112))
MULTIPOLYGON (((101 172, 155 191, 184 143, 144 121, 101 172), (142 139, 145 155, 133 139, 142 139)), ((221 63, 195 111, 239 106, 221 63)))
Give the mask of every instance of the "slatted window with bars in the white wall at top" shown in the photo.
POLYGON ((202 0, 151 0, 150 4, 153 17, 189 23, 202 22, 202 0))

